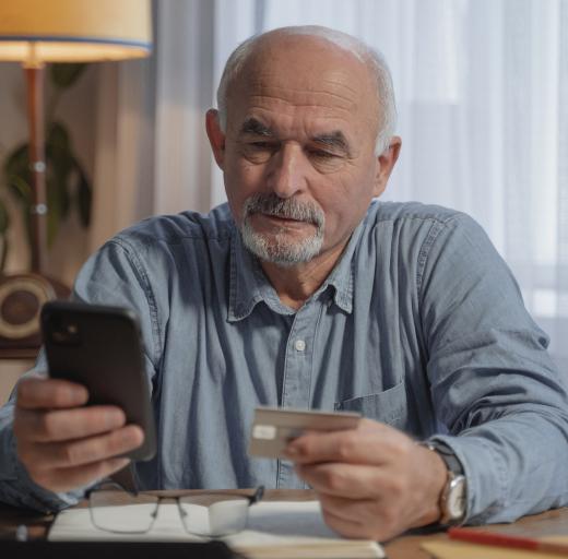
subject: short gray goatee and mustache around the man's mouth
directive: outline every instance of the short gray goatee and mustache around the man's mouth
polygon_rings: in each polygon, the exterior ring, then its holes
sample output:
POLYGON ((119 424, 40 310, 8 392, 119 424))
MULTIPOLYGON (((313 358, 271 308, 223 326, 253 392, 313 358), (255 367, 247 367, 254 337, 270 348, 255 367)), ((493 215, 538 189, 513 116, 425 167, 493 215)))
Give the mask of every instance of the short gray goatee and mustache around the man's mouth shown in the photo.
POLYGON ((240 235, 245 247, 263 262, 291 267, 309 262, 320 253, 324 225, 323 213, 312 204, 300 204, 294 199, 284 200, 275 194, 255 194, 246 200, 242 207, 240 235), (316 233, 301 241, 291 241, 284 228, 275 235, 263 235, 250 224, 250 216, 255 213, 307 222, 316 226, 316 233))

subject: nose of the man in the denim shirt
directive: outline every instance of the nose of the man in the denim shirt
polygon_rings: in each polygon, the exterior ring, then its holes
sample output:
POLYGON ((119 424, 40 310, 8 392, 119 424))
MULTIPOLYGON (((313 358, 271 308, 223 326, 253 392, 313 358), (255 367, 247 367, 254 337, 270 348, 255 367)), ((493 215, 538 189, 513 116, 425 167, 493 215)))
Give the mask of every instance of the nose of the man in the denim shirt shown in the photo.
POLYGON ((272 158, 268 186, 280 198, 292 198, 306 188, 307 170, 301 148, 283 145, 272 158))

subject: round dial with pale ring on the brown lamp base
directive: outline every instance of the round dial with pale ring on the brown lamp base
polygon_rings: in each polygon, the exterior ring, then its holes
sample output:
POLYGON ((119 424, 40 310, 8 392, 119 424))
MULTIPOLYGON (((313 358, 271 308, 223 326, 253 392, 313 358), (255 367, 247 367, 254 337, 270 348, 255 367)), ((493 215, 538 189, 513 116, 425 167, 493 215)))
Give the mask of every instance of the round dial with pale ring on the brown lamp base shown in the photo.
POLYGON ((42 277, 4 277, 0 283, 0 336, 22 340, 38 333, 42 305, 54 298, 52 287, 42 277))

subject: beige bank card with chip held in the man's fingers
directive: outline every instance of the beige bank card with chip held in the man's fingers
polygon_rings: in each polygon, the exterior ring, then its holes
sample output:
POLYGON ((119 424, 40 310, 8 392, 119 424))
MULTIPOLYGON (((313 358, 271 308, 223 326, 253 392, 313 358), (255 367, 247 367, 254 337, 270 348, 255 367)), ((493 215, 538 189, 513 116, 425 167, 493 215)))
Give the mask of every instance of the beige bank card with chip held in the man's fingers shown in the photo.
POLYGON ((355 429, 360 417, 355 412, 257 407, 248 452, 251 456, 285 457, 287 443, 305 431, 355 429))

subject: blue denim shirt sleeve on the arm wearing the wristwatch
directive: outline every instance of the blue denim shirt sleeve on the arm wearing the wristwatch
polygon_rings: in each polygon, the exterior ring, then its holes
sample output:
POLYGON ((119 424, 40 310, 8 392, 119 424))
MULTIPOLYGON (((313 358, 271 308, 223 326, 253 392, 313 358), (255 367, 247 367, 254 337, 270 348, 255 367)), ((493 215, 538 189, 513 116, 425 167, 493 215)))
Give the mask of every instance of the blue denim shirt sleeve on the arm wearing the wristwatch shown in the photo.
POLYGON ((468 216, 433 226, 418 277, 437 419, 468 478, 468 522, 568 503, 568 397, 546 334, 468 216))

